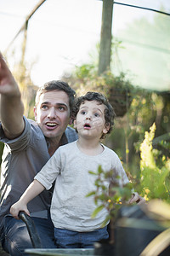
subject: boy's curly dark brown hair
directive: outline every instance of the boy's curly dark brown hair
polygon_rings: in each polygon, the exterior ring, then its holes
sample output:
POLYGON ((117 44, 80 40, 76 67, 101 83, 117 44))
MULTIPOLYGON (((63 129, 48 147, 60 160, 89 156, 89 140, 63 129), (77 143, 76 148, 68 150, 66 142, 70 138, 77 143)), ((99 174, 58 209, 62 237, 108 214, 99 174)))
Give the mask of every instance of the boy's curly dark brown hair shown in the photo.
MULTIPOLYGON (((85 96, 80 96, 75 99, 75 106, 73 108, 73 119, 76 119, 77 113, 79 111, 80 105, 85 101, 96 101, 99 104, 105 105, 105 125, 110 125, 110 129, 107 133, 111 133, 112 126, 114 125, 114 119, 116 118, 116 113, 114 112, 110 102, 108 102, 107 98, 99 93, 94 91, 88 91, 85 96)), ((104 138, 103 135, 101 138, 104 138)))

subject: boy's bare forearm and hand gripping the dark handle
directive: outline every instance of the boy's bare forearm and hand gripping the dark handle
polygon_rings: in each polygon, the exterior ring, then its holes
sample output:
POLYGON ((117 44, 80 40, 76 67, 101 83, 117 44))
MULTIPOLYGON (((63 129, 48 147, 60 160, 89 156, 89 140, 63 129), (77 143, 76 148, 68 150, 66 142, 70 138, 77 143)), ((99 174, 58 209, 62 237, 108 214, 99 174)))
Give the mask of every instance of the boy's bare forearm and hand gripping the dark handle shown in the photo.
POLYGON ((39 183, 35 179, 26 189, 24 194, 20 196, 20 200, 14 203, 14 205, 10 208, 10 213, 13 215, 13 217, 19 219, 18 214, 20 211, 24 211, 30 215, 30 212, 27 209, 28 202, 39 195, 44 189, 45 188, 42 183, 39 183))

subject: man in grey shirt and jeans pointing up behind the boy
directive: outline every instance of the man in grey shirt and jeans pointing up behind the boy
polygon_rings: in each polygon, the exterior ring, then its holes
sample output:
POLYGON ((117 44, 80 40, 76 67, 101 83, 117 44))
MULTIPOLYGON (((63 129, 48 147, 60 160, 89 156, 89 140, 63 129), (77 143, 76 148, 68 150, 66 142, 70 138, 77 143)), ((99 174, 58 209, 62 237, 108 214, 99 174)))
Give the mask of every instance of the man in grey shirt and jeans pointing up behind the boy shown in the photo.
MULTIPOLYGON (((20 90, 0 55, 0 140, 3 150, 0 202, 0 234, 2 246, 11 256, 26 255, 32 247, 21 220, 9 215, 10 206, 20 198, 33 177, 60 145, 77 139, 67 127, 75 91, 62 81, 51 81, 37 91, 35 121, 23 116, 20 90)), ((66 193, 66 192, 65 192, 66 193)), ((29 205, 42 247, 54 248, 54 228, 49 218, 52 191, 45 191, 29 205)))

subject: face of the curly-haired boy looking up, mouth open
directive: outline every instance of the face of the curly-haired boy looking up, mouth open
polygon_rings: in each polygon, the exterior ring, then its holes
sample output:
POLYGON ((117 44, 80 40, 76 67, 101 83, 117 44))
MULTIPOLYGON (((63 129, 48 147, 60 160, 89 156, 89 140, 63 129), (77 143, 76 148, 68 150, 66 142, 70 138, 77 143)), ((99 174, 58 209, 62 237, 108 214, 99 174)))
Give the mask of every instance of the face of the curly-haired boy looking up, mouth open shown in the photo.
POLYGON ((85 101, 80 105, 74 127, 79 137, 100 138, 109 127, 105 125, 105 105, 96 101, 85 101))

